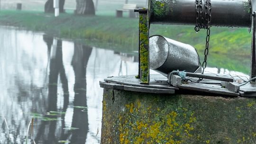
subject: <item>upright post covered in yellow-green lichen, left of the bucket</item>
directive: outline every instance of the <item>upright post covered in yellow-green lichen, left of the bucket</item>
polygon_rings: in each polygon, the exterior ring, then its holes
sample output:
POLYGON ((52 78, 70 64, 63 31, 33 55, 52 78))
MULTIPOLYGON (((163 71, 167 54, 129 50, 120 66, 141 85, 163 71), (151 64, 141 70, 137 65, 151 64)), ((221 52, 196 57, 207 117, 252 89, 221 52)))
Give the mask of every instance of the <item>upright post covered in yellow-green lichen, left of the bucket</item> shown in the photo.
POLYGON ((149 83, 149 17, 148 9, 135 9, 139 12, 139 78, 141 84, 149 83))

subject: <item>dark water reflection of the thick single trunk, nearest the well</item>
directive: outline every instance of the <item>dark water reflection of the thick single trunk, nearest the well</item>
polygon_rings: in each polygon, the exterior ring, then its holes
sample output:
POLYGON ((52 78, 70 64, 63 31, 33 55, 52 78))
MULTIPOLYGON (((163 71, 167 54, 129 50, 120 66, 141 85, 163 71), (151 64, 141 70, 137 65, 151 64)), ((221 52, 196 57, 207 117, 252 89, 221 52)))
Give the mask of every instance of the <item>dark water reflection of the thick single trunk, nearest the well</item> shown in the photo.
POLYGON ((71 137, 71 143, 85 144, 88 133, 88 113, 86 100, 86 67, 92 47, 75 44, 72 66, 75 74, 72 127, 79 127, 71 137), (84 110, 81 110, 85 107, 84 110))

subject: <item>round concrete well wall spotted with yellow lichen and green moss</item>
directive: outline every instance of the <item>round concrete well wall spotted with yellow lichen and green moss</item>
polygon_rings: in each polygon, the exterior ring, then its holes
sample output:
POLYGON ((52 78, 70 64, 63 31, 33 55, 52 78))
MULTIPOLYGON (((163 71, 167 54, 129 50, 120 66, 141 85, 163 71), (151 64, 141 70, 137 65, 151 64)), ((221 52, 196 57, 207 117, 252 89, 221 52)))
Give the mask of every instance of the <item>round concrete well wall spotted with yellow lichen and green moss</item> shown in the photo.
POLYGON ((255 144, 256 99, 104 89, 101 144, 255 144))

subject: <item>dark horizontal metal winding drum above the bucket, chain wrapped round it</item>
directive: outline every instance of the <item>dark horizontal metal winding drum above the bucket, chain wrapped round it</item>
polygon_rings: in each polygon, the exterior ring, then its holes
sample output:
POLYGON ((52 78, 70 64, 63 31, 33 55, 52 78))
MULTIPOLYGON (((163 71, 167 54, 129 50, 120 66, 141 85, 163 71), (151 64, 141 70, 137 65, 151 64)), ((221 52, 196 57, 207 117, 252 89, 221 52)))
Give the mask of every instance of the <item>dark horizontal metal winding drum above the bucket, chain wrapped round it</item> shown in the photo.
MULTIPOLYGON (((250 27, 248 0, 210 0, 211 26, 250 27)), ((202 0, 204 3, 204 0, 202 0)), ((195 0, 149 0, 151 24, 196 25, 195 0)), ((205 7, 202 7, 203 14, 205 7)))

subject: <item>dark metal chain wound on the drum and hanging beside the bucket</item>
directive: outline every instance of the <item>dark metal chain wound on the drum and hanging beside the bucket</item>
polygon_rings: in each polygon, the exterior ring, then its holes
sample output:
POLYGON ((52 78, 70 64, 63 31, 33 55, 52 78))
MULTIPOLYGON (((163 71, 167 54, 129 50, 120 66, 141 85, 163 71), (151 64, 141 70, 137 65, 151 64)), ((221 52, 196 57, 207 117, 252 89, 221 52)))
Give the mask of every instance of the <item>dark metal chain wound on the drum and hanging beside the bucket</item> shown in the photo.
MULTIPOLYGON (((198 32, 201 28, 206 29, 206 43, 204 50, 204 61, 202 63, 202 74, 207 65, 207 56, 209 54, 209 41, 210 41, 210 22, 211 22, 211 3, 210 0, 204 0, 204 17, 202 16, 202 0, 195 1, 196 7, 196 26, 195 31, 198 32), (200 9, 201 8, 201 9, 200 9), (200 19, 200 20, 199 20, 200 19)), ((200 82, 202 79, 199 79, 197 82, 200 82)))

